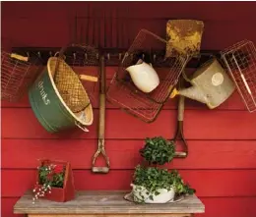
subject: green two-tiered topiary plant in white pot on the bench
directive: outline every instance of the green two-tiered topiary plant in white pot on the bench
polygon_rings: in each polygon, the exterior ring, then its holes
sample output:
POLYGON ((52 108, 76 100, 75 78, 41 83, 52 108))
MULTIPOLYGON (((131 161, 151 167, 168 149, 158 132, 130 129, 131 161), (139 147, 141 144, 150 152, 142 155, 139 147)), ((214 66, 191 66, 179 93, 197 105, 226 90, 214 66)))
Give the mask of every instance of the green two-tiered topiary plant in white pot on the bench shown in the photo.
POLYGON ((162 136, 146 138, 145 141, 140 153, 147 163, 136 166, 131 184, 134 201, 165 203, 174 196, 194 193, 195 190, 184 183, 178 171, 158 167, 173 159, 174 143, 162 136))

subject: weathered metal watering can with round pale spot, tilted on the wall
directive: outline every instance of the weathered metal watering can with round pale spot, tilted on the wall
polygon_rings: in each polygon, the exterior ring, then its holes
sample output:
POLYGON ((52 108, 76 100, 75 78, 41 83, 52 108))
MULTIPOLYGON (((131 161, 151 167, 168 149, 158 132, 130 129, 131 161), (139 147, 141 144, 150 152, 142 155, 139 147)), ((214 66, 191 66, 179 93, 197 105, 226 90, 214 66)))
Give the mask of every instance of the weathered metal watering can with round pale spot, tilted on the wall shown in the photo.
POLYGON ((210 109, 221 105, 234 91, 235 85, 216 58, 206 62, 189 80, 191 87, 173 89, 170 98, 183 95, 207 104, 210 109))

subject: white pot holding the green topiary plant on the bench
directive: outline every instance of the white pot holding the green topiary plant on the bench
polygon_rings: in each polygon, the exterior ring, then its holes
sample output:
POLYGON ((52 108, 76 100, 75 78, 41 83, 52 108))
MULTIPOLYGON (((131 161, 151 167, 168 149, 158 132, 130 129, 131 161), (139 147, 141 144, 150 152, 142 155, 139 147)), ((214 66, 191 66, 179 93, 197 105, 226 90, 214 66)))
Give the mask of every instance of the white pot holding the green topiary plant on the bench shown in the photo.
POLYGON ((149 192, 148 190, 146 190, 144 187, 138 187, 133 184, 131 184, 131 187, 133 188, 132 192, 134 195, 134 201, 138 201, 139 199, 142 201, 144 200, 145 203, 166 203, 168 201, 172 201, 175 195, 174 189, 171 189, 171 190, 160 189, 158 190, 160 194, 155 195, 149 192), (153 200, 150 198, 150 195, 153 195, 153 200))

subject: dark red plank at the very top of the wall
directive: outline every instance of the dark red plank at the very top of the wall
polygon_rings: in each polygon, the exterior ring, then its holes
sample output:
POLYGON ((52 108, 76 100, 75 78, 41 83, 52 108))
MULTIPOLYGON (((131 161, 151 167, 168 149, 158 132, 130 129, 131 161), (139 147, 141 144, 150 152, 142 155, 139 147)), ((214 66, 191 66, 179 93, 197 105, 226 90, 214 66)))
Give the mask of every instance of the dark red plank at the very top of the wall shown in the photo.
POLYGON ((128 7, 129 17, 140 19, 202 19, 207 21, 256 21, 255 2, 4 2, 3 18, 49 18, 65 17, 71 11, 84 15, 88 7, 107 9, 128 7), (156 10, 156 8, 160 10, 156 10), (58 9, 58 10, 56 10, 58 9), (143 9, 144 13, 141 13, 143 9), (215 11, 218 13, 209 13, 215 11), (239 14, 239 17, 237 16, 239 14))

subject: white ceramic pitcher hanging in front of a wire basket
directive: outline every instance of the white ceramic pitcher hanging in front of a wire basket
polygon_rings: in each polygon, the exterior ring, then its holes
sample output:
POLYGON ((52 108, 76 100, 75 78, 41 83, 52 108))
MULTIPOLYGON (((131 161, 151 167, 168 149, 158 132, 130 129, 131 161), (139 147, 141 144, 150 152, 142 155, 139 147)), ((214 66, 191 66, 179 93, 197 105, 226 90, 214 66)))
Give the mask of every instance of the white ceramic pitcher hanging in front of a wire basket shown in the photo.
POLYGON ((128 67, 126 70, 129 72, 134 84, 140 90, 146 93, 151 92, 160 84, 158 73, 151 65, 145 62, 138 63, 128 67))

